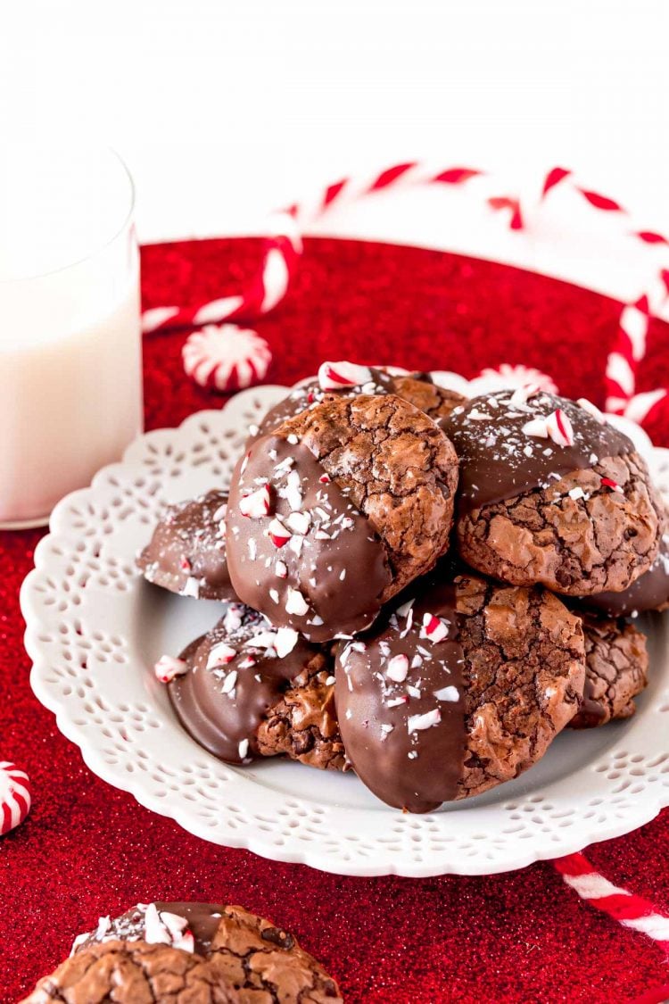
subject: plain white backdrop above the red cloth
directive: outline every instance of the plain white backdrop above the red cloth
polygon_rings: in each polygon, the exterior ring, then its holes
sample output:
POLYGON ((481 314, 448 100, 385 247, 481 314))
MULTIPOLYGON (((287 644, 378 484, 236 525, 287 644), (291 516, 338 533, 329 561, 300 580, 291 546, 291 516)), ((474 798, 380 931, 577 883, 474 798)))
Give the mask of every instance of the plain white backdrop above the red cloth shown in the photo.
POLYGON ((422 158, 572 167, 661 229, 668 50, 666 0, 6 0, 0 142, 111 143, 143 240, 422 158))

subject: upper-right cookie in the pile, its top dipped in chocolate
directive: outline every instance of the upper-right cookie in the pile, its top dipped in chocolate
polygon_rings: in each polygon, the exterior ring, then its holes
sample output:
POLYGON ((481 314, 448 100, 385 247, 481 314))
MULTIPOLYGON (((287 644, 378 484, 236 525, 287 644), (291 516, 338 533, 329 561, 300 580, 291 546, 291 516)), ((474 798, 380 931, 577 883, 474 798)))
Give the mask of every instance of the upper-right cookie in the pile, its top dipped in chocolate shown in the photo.
POLYGON ((455 408, 444 429, 460 460, 458 547, 473 568, 591 595, 652 566, 662 513, 646 465, 589 402, 501 391, 455 408))

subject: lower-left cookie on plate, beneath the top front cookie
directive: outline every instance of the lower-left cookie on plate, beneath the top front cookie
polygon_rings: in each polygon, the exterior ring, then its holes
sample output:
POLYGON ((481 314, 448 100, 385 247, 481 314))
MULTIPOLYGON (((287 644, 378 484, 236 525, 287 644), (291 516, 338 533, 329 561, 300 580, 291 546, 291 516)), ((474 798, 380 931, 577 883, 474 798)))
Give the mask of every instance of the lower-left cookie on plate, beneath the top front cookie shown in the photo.
POLYGON ((343 768, 326 653, 290 628, 231 603, 182 656, 169 684, 187 732, 226 763, 287 754, 309 766, 343 768))

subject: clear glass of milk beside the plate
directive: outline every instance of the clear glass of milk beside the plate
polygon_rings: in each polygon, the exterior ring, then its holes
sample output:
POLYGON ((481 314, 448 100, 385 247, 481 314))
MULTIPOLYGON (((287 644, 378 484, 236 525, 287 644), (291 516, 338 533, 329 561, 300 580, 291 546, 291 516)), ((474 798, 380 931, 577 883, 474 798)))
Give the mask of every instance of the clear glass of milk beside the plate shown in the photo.
POLYGON ((133 202, 111 150, 3 145, 0 528, 46 523, 141 432, 133 202))

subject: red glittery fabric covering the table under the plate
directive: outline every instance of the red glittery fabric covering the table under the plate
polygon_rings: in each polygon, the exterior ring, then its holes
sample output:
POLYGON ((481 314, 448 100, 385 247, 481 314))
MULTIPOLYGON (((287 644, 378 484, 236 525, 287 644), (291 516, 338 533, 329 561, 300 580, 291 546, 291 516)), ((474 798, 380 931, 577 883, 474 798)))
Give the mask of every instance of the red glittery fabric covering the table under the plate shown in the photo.
MULTIPOLYGON (((144 306, 234 292, 254 240, 147 247, 144 306)), ((257 323, 290 384, 324 358, 455 369, 524 363, 601 405, 620 305, 518 269, 415 248, 309 240, 287 300, 257 323), (567 336, 566 332, 569 332, 567 336)), ((639 390, 669 383, 669 327, 653 322, 639 390)), ((184 374, 185 332, 147 337, 146 427, 223 399, 184 374)), ((661 416, 652 433, 669 445, 661 416)), ((208 844, 110 788, 32 696, 18 607, 40 533, 0 533, 0 756, 30 774, 28 820, 0 843, 0 1000, 12 1002, 97 917, 137 901, 241 903, 295 932, 349 1001, 660 1000, 660 949, 589 908, 550 863, 490 877, 338 877, 208 844)), ((589 850, 611 882, 669 909, 669 812, 589 850)))

